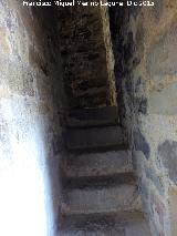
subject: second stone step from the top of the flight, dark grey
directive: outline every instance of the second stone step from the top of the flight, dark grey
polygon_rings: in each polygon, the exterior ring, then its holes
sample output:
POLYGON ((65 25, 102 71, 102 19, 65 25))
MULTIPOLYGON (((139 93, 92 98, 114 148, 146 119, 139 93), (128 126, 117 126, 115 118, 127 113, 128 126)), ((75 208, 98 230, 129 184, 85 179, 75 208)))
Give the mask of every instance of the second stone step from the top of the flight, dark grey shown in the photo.
POLYGON ((65 141, 69 151, 87 152, 125 146, 119 126, 67 130, 65 141))

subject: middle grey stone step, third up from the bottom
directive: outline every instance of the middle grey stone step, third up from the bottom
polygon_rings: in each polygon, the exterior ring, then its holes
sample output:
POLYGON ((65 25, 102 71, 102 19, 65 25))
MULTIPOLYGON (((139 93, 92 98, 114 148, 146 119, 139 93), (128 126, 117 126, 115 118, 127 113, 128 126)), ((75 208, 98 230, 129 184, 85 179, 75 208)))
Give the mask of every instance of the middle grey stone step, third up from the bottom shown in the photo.
POLYGON ((67 177, 110 176, 133 170, 128 151, 70 154, 66 160, 67 177))

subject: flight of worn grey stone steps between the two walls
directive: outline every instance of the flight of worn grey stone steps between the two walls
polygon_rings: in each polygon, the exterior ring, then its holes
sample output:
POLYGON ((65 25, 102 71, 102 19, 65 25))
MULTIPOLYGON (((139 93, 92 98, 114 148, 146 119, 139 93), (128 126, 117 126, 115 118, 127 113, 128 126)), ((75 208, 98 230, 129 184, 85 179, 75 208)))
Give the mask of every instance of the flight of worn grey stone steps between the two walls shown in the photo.
POLYGON ((150 236, 117 109, 67 117, 61 236, 150 236))

